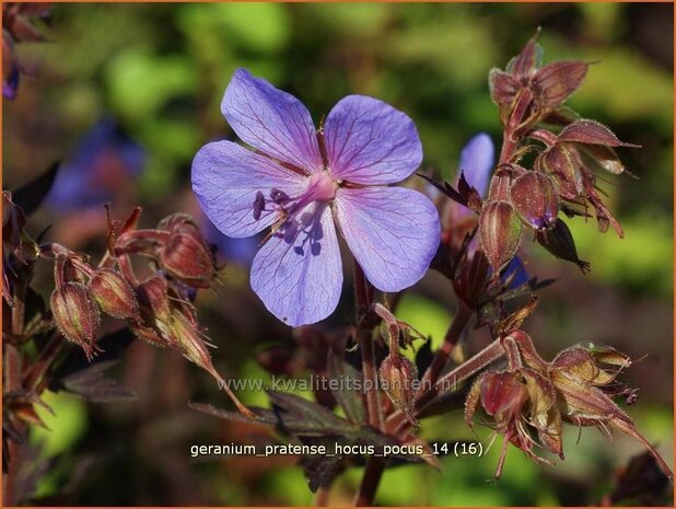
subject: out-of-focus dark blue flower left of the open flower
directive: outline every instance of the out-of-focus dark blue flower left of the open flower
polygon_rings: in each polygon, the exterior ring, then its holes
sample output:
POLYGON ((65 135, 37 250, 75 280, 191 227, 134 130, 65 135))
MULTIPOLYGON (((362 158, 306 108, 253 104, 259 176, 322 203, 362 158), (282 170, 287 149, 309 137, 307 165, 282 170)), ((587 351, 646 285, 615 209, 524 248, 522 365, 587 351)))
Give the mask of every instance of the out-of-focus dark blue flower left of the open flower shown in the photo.
POLYGON ((46 204, 57 213, 102 206, 143 170, 145 151, 103 119, 61 164, 46 204))

